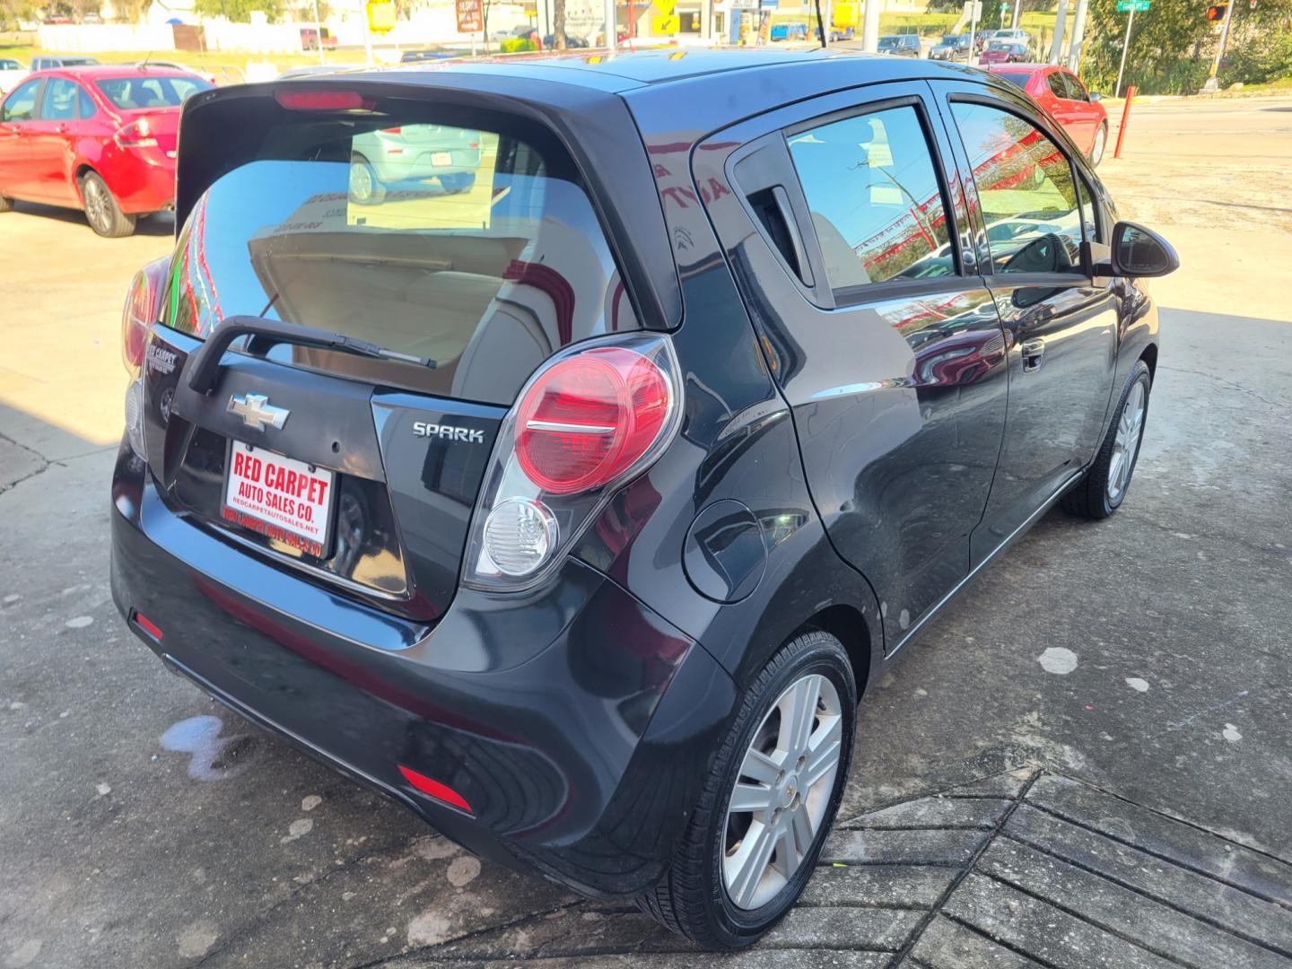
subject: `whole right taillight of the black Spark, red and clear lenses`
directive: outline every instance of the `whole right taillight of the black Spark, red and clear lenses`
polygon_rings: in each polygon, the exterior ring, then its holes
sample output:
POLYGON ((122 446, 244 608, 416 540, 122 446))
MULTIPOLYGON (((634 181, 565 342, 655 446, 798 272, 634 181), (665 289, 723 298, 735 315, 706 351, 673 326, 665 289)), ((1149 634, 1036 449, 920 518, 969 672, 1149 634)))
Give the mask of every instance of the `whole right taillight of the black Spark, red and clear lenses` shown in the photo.
POLYGON ((580 344, 544 364, 499 432, 464 584, 517 589, 548 575, 614 491, 668 447, 681 393, 663 335, 580 344))

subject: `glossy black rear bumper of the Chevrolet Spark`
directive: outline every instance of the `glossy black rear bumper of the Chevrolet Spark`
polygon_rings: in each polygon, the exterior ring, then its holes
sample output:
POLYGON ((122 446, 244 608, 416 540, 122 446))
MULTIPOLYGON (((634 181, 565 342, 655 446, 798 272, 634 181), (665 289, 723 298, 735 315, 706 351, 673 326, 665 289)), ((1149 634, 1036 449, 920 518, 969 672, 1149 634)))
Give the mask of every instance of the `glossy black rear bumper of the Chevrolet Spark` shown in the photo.
POLYGON ((619 585, 571 559, 525 601, 460 590, 425 628, 176 516, 128 446, 112 503, 114 599, 172 669, 487 858, 599 897, 663 875, 738 698, 619 585))

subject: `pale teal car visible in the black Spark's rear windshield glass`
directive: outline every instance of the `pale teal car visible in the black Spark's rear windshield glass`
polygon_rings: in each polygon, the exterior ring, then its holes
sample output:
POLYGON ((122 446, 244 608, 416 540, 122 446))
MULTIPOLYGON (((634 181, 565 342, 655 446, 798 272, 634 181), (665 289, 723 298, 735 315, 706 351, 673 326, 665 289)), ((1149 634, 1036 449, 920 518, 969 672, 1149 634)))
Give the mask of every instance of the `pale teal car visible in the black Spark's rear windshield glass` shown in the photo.
POLYGON ((439 180, 444 191, 469 191, 481 164, 481 134, 470 128, 406 124, 357 134, 350 147, 350 198, 377 203, 398 182, 439 180))

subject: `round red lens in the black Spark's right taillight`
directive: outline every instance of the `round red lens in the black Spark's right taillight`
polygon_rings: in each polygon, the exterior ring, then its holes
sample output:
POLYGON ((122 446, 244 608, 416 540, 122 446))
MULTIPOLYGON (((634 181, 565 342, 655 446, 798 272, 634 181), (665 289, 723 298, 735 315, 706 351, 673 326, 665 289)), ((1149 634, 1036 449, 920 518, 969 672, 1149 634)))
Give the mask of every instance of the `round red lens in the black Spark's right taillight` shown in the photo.
POLYGON ((561 360, 517 411, 521 468, 552 495, 606 484, 655 442, 671 393, 664 372, 633 350, 599 348, 561 360))

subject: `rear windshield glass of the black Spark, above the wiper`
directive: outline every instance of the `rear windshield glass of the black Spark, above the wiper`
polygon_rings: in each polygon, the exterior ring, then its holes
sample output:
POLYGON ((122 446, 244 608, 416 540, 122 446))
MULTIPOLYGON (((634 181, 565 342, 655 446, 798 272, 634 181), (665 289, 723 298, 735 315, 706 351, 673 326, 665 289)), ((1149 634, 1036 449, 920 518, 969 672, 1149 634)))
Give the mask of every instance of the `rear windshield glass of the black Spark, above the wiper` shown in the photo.
POLYGON ((194 207, 163 322, 205 336, 251 315, 345 333, 435 366, 291 344, 267 355, 501 404, 562 346, 638 328, 568 156, 499 118, 276 125, 194 207))

